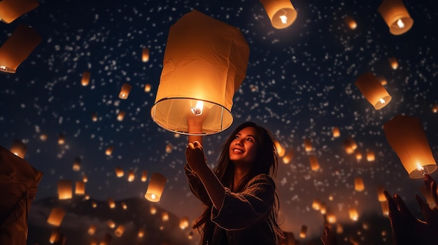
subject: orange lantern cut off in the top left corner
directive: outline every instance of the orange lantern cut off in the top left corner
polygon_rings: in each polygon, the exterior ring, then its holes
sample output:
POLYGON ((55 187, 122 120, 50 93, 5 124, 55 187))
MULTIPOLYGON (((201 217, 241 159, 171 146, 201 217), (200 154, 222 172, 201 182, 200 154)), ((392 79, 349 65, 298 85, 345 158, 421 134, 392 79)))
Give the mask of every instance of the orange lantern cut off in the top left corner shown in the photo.
POLYGON ((36 0, 3 0, 0 1, 0 20, 10 24, 17 17, 28 13, 38 7, 36 0))

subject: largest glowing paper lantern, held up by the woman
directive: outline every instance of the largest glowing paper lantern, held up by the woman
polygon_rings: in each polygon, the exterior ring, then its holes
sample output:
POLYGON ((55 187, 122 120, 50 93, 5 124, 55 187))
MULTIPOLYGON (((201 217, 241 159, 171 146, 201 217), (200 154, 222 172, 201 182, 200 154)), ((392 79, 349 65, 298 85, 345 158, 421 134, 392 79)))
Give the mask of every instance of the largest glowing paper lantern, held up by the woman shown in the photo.
POLYGON ((202 132, 231 126, 234 92, 246 77, 249 47, 241 31, 192 10, 169 30, 160 85, 150 110, 156 124, 188 133, 188 117, 205 117, 202 132))

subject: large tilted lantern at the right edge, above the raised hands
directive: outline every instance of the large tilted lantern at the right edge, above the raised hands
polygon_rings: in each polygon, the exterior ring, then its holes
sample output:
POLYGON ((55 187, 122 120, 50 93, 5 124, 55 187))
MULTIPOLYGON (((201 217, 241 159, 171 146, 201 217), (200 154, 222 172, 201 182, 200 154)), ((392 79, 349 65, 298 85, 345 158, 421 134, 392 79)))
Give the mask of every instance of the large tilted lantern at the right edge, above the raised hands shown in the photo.
POLYGON ((420 119, 400 114, 383 124, 383 131, 409 177, 418 179, 437 170, 420 119))

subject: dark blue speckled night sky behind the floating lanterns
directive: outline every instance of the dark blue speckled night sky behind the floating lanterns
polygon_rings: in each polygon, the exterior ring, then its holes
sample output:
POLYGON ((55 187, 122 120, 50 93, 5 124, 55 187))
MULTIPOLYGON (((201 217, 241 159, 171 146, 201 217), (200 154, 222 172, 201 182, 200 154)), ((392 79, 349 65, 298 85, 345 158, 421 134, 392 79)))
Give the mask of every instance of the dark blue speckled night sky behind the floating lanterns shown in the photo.
MULTIPOLYGON (((0 44, 18 24, 34 28, 42 42, 17 68, 0 74, 0 144, 13 140, 27 145, 24 157, 44 173, 37 199, 57 195, 57 181, 88 178, 86 193, 97 200, 143 197, 148 182, 141 172, 167 177, 157 204, 191 220, 201 214, 201 203, 190 193, 183 166, 185 135, 157 126, 150 117, 169 28, 185 13, 198 10, 241 30, 250 47, 246 79, 234 94, 232 126, 204 137, 211 165, 220 144, 243 121, 255 121, 274 133, 290 163, 279 161, 277 185, 283 229, 308 236, 323 231, 323 216, 312 209, 315 198, 334 211, 339 223, 353 223, 348 207, 360 216, 382 215, 377 186, 400 193, 416 209, 415 193, 421 179, 410 179, 391 149, 382 126, 398 114, 421 119, 432 153, 438 156, 438 12, 434 1, 404 4, 414 20, 400 36, 390 34, 377 8, 381 1, 292 1, 297 20, 275 29, 260 1, 39 1, 38 8, 6 24, 0 22, 0 44), (350 29, 344 17, 353 17, 350 29), (150 60, 141 60, 143 47, 150 60), (395 57, 398 68, 388 59, 395 57), (88 86, 80 84, 84 71, 88 86), (386 78, 392 101, 381 110, 362 96, 354 82, 363 73, 386 78), (132 85, 126 100, 118 98, 124 83, 132 85), (151 85, 150 92, 144 90, 151 85), (118 112, 126 112, 118 121, 118 112), (97 121, 92 114, 97 113, 97 121), (341 136, 332 137, 339 127, 341 136), (58 135, 65 144, 58 144, 58 135), (41 140, 41 135, 47 137, 41 140), (346 154, 342 142, 351 137, 362 160, 346 154), (304 139, 313 150, 304 151, 304 139), (171 145, 171 151, 167 151, 171 145), (106 149, 113 146, 113 154, 106 149), (374 151, 376 160, 366 160, 374 151), (312 171, 309 156, 320 164, 312 171), (75 158, 81 159, 73 171, 75 158), (114 169, 125 170, 125 177, 114 169), (127 171, 136 179, 127 181, 127 171), (362 177, 364 191, 355 191, 362 177)), ((437 173, 431 174, 438 179, 437 173)), ((148 202, 148 200, 144 200, 148 202)))

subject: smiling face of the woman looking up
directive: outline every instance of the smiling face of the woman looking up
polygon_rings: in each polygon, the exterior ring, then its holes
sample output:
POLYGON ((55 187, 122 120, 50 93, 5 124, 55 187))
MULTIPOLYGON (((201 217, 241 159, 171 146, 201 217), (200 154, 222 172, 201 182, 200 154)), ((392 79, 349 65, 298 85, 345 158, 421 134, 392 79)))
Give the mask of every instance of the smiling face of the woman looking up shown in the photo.
POLYGON ((247 127, 234 135, 234 140, 229 144, 229 160, 234 165, 250 166, 257 157, 257 144, 255 141, 255 128, 247 127))

